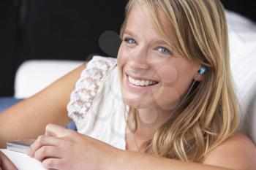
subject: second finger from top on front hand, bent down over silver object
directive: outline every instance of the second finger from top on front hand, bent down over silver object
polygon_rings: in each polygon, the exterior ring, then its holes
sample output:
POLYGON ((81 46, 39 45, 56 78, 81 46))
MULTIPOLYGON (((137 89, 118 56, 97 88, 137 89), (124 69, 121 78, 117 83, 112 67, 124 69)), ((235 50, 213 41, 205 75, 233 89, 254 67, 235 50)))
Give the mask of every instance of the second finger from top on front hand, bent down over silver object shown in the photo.
POLYGON ((34 157, 34 152, 38 150, 42 146, 59 146, 61 143, 61 139, 58 139, 53 136, 45 136, 41 135, 38 136, 37 140, 31 144, 29 148, 29 152, 27 152, 27 155, 34 157))

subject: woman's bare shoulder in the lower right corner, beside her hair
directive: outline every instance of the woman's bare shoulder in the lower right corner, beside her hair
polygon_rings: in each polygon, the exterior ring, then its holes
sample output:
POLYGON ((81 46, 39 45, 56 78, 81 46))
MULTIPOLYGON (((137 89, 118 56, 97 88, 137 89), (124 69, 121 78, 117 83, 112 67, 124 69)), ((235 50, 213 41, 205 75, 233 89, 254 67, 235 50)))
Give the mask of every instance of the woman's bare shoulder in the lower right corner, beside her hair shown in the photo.
POLYGON ((255 144, 244 134, 236 132, 206 155, 204 164, 230 169, 255 169, 255 144))

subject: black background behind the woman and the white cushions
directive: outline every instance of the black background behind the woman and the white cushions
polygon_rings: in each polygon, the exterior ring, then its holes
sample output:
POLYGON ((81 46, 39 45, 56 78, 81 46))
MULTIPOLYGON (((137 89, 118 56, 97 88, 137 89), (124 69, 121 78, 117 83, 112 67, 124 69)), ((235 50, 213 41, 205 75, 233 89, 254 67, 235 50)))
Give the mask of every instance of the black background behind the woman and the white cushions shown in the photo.
MULTIPOLYGON (((249 0, 223 0, 256 21, 249 0)), ((99 36, 119 32, 127 0, 1 0, 0 96, 12 96, 15 72, 29 59, 86 60, 99 49, 99 36)))

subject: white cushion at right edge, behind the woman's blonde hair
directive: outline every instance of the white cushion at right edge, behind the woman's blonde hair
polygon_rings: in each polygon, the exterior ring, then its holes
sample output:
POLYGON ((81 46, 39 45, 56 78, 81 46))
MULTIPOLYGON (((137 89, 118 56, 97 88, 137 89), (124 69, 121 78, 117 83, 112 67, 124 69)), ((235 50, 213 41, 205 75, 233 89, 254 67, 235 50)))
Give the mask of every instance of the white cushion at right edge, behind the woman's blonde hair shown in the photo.
POLYGON ((227 11, 230 38, 230 64, 235 90, 241 103, 241 130, 256 142, 256 24, 251 20, 227 11))

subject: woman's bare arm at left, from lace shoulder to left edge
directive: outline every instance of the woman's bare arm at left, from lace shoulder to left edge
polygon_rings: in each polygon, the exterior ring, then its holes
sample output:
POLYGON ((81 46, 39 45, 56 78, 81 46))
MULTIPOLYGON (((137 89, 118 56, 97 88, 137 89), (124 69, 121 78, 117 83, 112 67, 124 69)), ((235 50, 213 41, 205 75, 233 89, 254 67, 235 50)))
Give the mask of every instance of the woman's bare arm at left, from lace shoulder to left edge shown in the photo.
POLYGON ((67 104, 70 93, 85 67, 86 64, 79 66, 48 88, 1 112, 0 148, 6 147, 10 140, 37 138, 44 134, 48 123, 63 126, 69 123, 67 104))

